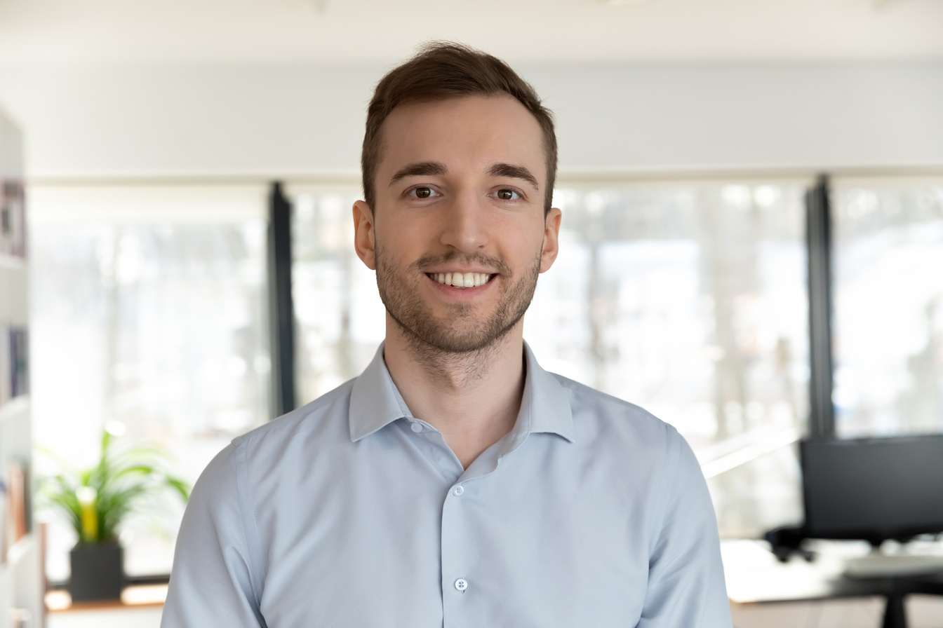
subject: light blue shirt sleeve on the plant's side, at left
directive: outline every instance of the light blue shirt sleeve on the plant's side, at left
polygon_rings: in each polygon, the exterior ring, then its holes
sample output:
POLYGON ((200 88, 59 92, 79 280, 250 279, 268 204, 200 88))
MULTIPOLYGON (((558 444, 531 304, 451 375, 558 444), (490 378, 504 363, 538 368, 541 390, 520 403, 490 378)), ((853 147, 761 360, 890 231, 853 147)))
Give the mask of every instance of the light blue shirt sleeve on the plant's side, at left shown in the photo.
POLYGON ((193 487, 160 628, 266 628, 252 586, 237 459, 228 445, 193 487))

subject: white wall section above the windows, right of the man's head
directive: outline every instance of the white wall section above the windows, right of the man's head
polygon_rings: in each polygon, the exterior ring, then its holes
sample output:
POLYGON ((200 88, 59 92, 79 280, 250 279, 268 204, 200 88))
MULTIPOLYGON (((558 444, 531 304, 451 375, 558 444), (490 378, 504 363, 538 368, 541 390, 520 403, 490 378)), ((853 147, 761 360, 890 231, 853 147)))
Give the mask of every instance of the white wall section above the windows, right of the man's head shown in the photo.
POLYGON ((943 166, 943 64, 532 72, 561 165, 943 166))

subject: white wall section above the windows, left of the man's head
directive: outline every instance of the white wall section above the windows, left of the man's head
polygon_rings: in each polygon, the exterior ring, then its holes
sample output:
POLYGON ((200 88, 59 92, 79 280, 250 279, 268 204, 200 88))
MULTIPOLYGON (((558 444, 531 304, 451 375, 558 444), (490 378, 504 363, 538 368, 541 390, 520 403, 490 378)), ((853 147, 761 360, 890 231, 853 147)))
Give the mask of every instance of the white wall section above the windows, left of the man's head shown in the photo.
POLYGON ((377 72, 0 70, 29 176, 355 169, 377 72))

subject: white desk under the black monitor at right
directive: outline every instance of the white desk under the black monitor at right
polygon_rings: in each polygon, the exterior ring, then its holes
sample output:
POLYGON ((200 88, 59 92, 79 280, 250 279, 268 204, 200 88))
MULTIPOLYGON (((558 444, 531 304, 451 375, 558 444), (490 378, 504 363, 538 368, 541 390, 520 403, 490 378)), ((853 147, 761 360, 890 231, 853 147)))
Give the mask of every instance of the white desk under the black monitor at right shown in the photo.
POLYGON ((883 596, 887 601, 883 628, 906 628, 903 603, 907 595, 943 595, 943 572, 853 579, 842 574, 845 560, 866 553, 867 545, 819 542, 809 546, 817 555, 813 562, 793 556, 780 563, 766 541, 723 541, 720 551, 730 601, 763 604, 883 596))

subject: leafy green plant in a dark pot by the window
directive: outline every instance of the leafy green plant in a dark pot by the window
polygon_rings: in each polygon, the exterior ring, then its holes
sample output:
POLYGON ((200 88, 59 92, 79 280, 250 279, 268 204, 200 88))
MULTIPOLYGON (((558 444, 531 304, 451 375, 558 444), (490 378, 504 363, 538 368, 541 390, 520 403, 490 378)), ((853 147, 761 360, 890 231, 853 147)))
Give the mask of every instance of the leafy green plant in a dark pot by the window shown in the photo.
POLYGON ((89 469, 74 468, 61 457, 62 472, 42 481, 41 498, 72 523, 78 541, 70 552, 73 602, 121 597, 124 587, 124 551, 118 528, 131 514, 155 506, 175 493, 184 502, 190 487, 167 472, 167 452, 157 445, 123 446, 114 436, 124 425, 111 423, 102 433, 102 451, 89 469))

